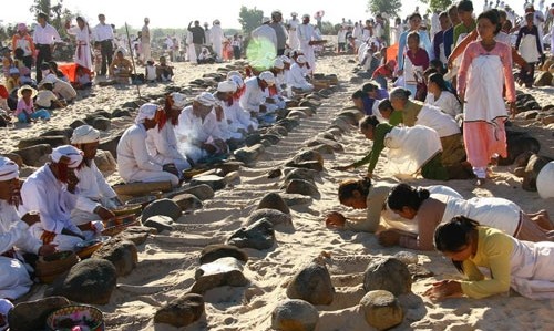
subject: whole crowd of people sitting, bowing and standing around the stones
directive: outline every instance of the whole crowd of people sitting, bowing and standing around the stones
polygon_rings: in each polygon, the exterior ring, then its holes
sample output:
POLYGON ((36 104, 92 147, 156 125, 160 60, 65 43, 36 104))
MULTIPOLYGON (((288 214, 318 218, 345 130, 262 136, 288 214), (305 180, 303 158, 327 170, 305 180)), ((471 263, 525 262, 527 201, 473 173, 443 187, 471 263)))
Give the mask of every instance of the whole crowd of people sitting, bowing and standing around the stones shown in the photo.
MULTIPOLYGON (((535 12, 532 6, 526 10, 535 12)), ((331 213, 326 223, 334 229, 376 232, 383 246, 435 248, 451 258, 469 280, 433 285, 425 292, 432 299, 462 294, 483 298, 510 287, 529 298, 552 298, 554 272, 546 266, 554 258, 554 224, 544 210, 527 214, 503 198, 464 199, 444 185, 412 187, 372 179, 384 148, 387 170, 394 175, 439 180, 474 178, 478 186, 486 184, 489 165, 506 156, 504 126, 515 101, 513 62, 532 75, 544 48, 532 15, 526 15, 519 29, 520 56, 502 34, 502 11, 488 9, 476 19, 472 12, 471 1, 461 0, 438 14, 441 28, 432 35, 420 29, 421 14, 411 14, 410 29, 398 34, 393 59, 386 55, 381 15, 368 20, 367 29, 355 24, 355 29, 361 29, 362 42, 356 42, 358 32, 352 32, 350 40, 360 64, 365 66, 368 60, 372 63, 373 58, 379 64, 371 81, 352 94, 356 107, 367 115, 360 122, 360 132, 372 141, 372 147, 362 159, 335 169, 369 164, 363 179, 342 183, 338 193, 342 205, 367 209, 367 217, 356 220, 331 213), (517 56, 522 60, 515 60, 517 56), (490 278, 485 279, 478 267, 489 267, 490 278)), ((276 122, 278 110, 285 108, 290 97, 311 92, 315 48, 324 41, 310 15, 302 15, 301 21, 296 13, 291 17, 286 24, 279 11, 264 18, 250 42, 265 52, 249 59, 244 71, 228 72, 216 91, 198 93, 192 103, 185 94, 173 92, 163 104, 143 104, 117 144, 121 178, 125 183, 168 182, 176 188, 186 170, 227 157, 258 127, 276 122)), ((21 33, 13 43, 16 60, 10 49, 4 50, 7 87, 12 87, 7 89, 6 106, 13 108, 20 122, 48 121, 49 110, 76 97, 75 84, 68 82, 51 59, 51 46, 59 35, 47 19, 39 15, 33 38, 25 34, 24 24, 18 27, 21 33), (35 82, 28 81, 32 65, 37 66, 35 82), (11 97, 13 93, 16 99, 11 97)), ((94 29, 82 18, 76 19, 75 27, 66 24, 76 37, 75 74, 93 72, 94 45, 102 58, 100 74, 129 80, 132 63, 125 58, 126 50, 113 51, 113 31, 103 14, 99 21, 94 29)), ((141 31, 145 79, 168 81, 173 68, 165 58, 158 65, 150 60, 148 23, 145 19, 141 31)), ((224 52, 218 25, 219 21, 214 21, 209 30, 209 52, 217 56, 224 52)), ((206 30, 195 21, 188 24, 188 32, 192 50, 202 54, 206 30)), ((339 38, 341 52, 346 51, 346 40, 339 38)), ((90 77, 78 83, 86 86, 90 77)), ((98 130, 76 127, 71 145, 53 148, 51 161, 22 185, 18 165, 0 157, 0 299, 13 300, 29 291, 32 280, 23 252, 45 256, 73 250, 83 240, 99 236, 103 221, 115 216, 112 209, 122 201, 94 163, 99 141, 98 130)))

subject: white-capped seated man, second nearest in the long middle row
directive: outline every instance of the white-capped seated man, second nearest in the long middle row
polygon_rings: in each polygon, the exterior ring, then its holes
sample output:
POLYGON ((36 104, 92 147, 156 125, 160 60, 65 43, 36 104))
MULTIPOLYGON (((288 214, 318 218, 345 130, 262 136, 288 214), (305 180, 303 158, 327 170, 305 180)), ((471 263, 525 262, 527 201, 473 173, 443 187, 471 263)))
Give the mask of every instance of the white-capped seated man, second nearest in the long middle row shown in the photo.
POLYGON ((177 169, 179 178, 184 170, 191 168, 186 157, 178 151, 175 128, 178 125, 178 116, 185 107, 186 96, 173 92, 165 99, 163 111, 158 111, 156 127, 148 130, 146 149, 155 162, 177 169))

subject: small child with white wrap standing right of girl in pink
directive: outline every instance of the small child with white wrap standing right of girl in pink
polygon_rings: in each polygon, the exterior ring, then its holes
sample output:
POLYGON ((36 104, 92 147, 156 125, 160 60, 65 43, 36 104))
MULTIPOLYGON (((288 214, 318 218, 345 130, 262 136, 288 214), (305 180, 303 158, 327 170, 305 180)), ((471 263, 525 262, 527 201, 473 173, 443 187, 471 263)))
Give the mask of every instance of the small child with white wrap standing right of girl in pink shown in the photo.
POLYGON ((526 25, 520 29, 515 48, 520 50, 521 55, 529 64, 529 71, 520 72, 520 77, 525 83, 525 87, 533 86, 533 75, 535 74, 535 63, 543 54, 541 41, 538 39, 538 29, 533 24, 534 15, 532 12, 525 14, 526 25))

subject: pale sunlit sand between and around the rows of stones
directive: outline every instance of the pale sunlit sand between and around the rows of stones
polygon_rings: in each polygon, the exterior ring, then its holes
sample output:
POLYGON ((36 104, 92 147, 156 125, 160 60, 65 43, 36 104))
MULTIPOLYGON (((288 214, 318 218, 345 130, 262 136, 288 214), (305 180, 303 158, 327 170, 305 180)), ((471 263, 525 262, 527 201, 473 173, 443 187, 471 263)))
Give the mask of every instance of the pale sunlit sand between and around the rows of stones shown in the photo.
MULTIPOLYGON (((239 179, 226 189, 216 192, 213 199, 204 201, 204 207, 182 216, 174 231, 162 232, 138 247, 140 262, 127 277, 117 279, 117 288, 110 303, 99 307, 105 314, 106 330, 176 330, 167 325, 154 325, 155 311, 166 302, 182 297, 194 282, 198 257, 203 247, 224 242, 256 208, 259 199, 268 192, 280 192, 283 180, 268 179, 269 170, 281 166, 305 146, 305 142, 324 131, 346 106, 350 106, 350 95, 358 89, 350 84, 350 56, 331 56, 318 61, 317 71, 336 73, 340 89, 330 99, 322 101, 315 116, 301 120, 299 127, 291 131, 278 144, 266 148, 255 167, 243 167, 239 179)), ((215 72, 220 65, 194 66, 178 63, 176 84, 184 85, 201 77, 203 73, 215 72)), ((158 94, 165 85, 141 86, 143 95, 158 94)), ((532 93, 541 105, 552 103, 552 87, 533 89, 532 93)), ((61 128, 94 110, 113 110, 120 104, 135 99, 136 90, 95 87, 94 96, 76 102, 58 111, 52 121, 37 123, 31 127, 8 128, 0 137, 1 152, 9 152, 18 139, 39 133, 61 128)), ((131 120, 117 120, 112 132, 123 130, 131 120)), ((531 121, 515 121, 522 130, 529 130, 540 138, 542 153, 554 157, 552 130, 545 130, 531 121)), ((107 136, 109 133, 103 133, 107 136)), ((266 251, 246 249, 249 261, 244 273, 249 280, 246 287, 220 287, 205 293, 205 316, 186 330, 270 330, 271 311, 286 299, 286 285, 299 269, 317 258, 322 251, 329 252, 325 261, 336 288, 336 298, 330 306, 318 306, 320 322, 317 330, 369 330, 360 313, 358 302, 365 294, 362 272, 371 256, 393 255, 402 249, 379 246, 371 234, 329 230, 322 224, 324 215, 330 210, 346 211, 363 216, 363 211, 349 210, 340 206, 337 198, 338 184, 346 178, 361 176, 363 168, 345 173, 332 170, 335 165, 343 165, 363 156, 370 147, 368 141, 352 126, 340 139, 345 152, 325 155, 325 170, 317 179, 320 199, 309 205, 291 207, 294 230, 276 231, 277 244, 266 251)), ((383 162, 376 170, 376 178, 384 178, 383 162)), ((536 193, 521 188, 521 178, 512 174, 513 166, 494 167, 494 183, 475 188, 471 180, 451 180, 447 185, 459 190, 465 198, 473 196, 496 196, 509 198, 526 211, 547 209, 554 216, 553 200, 542 200, 536 193)), ((116 174, 110 177, 117 180, 116 174)), ((414 185, 444 184, 427 179, 413 179, 414 185)), ((449 260, 437 252, 418 252, 419 263, 435 277, 417 280, 412 294, 400 301, 406 317, 394 330, 547 330, 554 323, 552 309, 554 300, 533 301, 512 293, 483 300, 451 299, 432 302, 422 293, 437 279, 460 277, 449 260)), ((40 297, 37 291, 33 297, 40 297)))

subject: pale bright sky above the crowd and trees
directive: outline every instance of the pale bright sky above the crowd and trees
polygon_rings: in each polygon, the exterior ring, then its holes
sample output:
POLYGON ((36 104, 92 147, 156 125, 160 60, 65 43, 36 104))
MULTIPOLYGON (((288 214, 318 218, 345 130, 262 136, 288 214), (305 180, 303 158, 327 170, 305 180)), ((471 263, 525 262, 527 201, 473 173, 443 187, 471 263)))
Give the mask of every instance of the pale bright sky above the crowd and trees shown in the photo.
MULTIPOLYGON (((51 0, 52 4, 58 3, 57 0, 51 0)), ((474 0, 473 7, 476 12, 481 12, 484 0, 474 0)), ((524 0, 504 0, 510 3, 517 13, 523 12, 524 0)), ((540 0, 535 0, 538 3, 540 0)), ((553 0, 546 0, 550 4, 553 0)), ((495 0, 494 0, 495 2, 495 0)), ((10 10, 2 10, 0 14, 0 23, 25 22, 32 23, 33 17, 29 9, 32 0, 16 0, 10 1, 10 10)), ((192 20, 203 22, 212 22, 215 19, 222 21, 224 29, 239 29, 238 12, 242 6, 247 8, 260 9, 264 15, 270 15, 271 11, 279 9, 284 19, 290 18, 290 12, 295 11, 300 17, 305 13, 314 15, 316 11, 324 10, 324 21, 332 23, 341 22, 342 18, 351 19, 352 21, 366 20, 371 17, 366 11, 368 0, 319 0, 319 1, 299 1, 299 0, 208 0, 208 1, 171 1, 171 0, 63 0, 63 6, 74 13, 85 17, 92 25, 98 23, 98 13, 102 12, 106 15, 106 22, 115 24, 117 28, 125 22, 130 27, 140 28, 143 24, 144 17, 150 18, 151 28, 186 28, 192 20), (194 6, 192 3, 195 3, 194 6)), ((402 9, 400 15, 407 17, 413 12, 417 6, 420 12, 423 13, 427 7, 417 0, 402 0, 402 9)))

